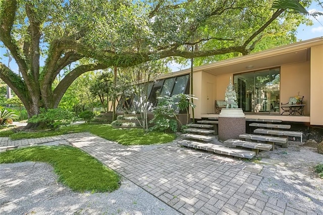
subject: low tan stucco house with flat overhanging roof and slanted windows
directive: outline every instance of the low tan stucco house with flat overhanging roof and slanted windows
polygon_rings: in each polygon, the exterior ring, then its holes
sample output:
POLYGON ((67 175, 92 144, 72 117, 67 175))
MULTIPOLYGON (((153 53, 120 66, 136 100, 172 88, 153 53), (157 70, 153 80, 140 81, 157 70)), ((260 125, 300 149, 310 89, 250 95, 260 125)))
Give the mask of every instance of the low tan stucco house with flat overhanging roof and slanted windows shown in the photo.
MULTIPOLYGON (((189 76, 190 69, 160 76, 150 84, 149 100, 156 104, 156 92, 189 93, 189 76)), ((195 67, 195 119, 219 116, 214 101, 224 100, 230 77, 246 119, 279 119, 323 133, 323 37, 195 67), (304 96, 302 115, 283 113, 281 104, 297 95, 304 96)))

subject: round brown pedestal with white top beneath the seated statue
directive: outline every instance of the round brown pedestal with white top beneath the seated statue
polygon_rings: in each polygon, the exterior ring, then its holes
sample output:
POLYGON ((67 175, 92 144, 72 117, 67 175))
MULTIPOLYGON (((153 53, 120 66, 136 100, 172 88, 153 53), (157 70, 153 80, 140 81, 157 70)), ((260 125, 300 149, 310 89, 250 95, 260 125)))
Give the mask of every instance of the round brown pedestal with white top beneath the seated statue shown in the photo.
POLYGON ((239 139, 246 133, 246 117, 242 109, 222 109, 219 115, 219 140, 239 139))

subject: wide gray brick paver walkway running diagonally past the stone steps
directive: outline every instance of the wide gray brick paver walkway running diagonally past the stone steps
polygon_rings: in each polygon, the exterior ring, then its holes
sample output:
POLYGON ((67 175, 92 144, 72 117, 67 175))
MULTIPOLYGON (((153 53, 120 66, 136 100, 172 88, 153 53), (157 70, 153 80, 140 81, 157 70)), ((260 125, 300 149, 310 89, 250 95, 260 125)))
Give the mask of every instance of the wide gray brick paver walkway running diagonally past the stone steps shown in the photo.
MULTIPOLYGON (((244 162, 222 164, 181 148, 123 146, 90 133, 60 136, 183 214, 315 214, 257 190, 244 162)), ((58 138, 60 138, 58 137, 58 138)))

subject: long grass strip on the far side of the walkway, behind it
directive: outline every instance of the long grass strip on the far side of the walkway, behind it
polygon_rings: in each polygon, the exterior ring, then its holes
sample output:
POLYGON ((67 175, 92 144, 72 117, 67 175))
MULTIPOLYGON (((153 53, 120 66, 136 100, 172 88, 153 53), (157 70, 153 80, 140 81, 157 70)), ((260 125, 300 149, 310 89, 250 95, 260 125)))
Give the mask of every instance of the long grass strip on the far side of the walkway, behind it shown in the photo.
POLYGON ((55 131, 35 131, 35 132, 10 132, 10 130, 0 130, 0 136, 9 136, 13 140, 39 138, 48 136, 58 136, 75 132, 91 132, 107 140, 116 141, 123 145, 150 145, 171 142, 176 138, 175 134, 149 132, 144 134, 142 129, 114 129, 107 124, 81 124, 72 126, 62 126, 55 131))

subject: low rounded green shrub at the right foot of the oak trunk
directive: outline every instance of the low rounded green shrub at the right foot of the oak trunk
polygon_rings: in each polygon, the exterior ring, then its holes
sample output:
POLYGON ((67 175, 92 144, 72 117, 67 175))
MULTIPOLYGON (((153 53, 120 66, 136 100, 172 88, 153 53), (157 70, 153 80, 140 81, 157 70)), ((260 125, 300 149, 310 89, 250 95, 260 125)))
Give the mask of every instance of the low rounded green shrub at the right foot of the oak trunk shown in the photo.
POLYGON ((61 125, 71 124, 73 118, 72 112, 60 108, 40 109, 40 113, 30 118, 28 123, 41 123, 45 124, 47 128, 57 129, 61 125))

